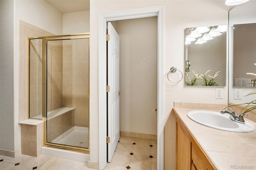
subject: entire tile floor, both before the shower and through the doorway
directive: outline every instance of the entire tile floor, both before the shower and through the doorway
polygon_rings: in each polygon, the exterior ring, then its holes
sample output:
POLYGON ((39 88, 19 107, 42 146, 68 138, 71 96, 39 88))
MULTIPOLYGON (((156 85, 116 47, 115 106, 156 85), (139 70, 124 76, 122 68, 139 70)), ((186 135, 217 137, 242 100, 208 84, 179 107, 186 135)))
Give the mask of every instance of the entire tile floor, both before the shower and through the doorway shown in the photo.
MULTIPOLYGON (((157 140, 121 136, 106 170, 156 170, 157 140)), ((93 170, 86 162, 52 156, 0 156, 1 170, 93 170)))

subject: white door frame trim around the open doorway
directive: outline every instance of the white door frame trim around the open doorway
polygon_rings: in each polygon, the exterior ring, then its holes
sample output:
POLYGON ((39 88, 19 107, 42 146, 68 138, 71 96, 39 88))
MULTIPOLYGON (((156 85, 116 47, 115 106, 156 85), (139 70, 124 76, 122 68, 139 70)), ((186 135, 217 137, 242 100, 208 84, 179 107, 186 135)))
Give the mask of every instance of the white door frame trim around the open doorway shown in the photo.
POLYGON ((101 13, 98 16, 98 86, 99 86, 99 169, 107 163, 106 145, 106 30, 107 22, 134 18, 158 17, 158 95, 157 95, 157 169, 164 169, 164 6, 136 8, 101 13))

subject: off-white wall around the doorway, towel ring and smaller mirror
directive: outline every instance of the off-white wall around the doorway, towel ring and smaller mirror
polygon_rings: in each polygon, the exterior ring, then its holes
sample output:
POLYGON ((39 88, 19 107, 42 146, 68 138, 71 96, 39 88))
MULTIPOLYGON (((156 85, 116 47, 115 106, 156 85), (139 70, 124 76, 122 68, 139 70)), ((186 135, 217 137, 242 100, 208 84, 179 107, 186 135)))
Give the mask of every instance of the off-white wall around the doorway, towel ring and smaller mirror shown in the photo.
MULTIPOLYGON (((184 29, 194 26, 227 25, 229 7, 224 1, 194 1, 194 0, 97 0, 90 3, 90 161, 98 162, 98 14, 143 8, 164 6, 164 119, 167 120, 174 101, 193 101, 205 103, 227 103, 228 87, 224 87, 223 99, 215 98, 215 88, 184 87, 184 81, 170 83, 166 74, 170 67, 176 66, 184 73, 184 29), (113 5, 114 4, 114 5, 113 5), (93 22, 92 22, 93 21, 93 22), (97 114, 94 114, 97 113, 97 114)), ((175 125, 171 115, 171 124, 175 125)), ((171 128, 175 131, 174 128, 171 128)), ((160 132, 163 134, 164 132, 160 132)), ((175 133, 172 133, 175 134, 175 133)), ((168 160, 175 165, 175 136, 169 142, 171 156, 168 160)), ((167 151, 166 151, 167 152, 167 151)))

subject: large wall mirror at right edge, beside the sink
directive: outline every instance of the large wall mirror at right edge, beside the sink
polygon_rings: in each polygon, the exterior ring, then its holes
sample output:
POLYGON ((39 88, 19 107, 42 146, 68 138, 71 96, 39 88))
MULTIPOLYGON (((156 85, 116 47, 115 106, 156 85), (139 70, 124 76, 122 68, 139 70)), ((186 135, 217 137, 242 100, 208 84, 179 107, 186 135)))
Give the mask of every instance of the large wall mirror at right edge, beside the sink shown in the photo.
MULTIPOLYGON (((255 95, 246 96, 254 91, 252 79, 246 73, 256 73, 256 1, 248 1, 234 6, 229 11, 229 87, 228 102, 248 103, 255 95), (235 91, 240 89, 240 98, 235 91)), ((255 85, 254 85, 255 86, 255 85)))

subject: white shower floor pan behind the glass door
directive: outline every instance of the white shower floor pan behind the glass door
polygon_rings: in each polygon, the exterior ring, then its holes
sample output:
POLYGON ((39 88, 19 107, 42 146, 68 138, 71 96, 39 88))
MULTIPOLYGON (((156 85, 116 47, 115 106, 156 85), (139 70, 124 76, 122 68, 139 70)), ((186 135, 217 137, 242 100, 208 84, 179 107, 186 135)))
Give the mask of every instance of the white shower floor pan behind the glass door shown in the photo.
POLYGON ((51 143, 88 148, 88 128, 72 127, 51 143))

